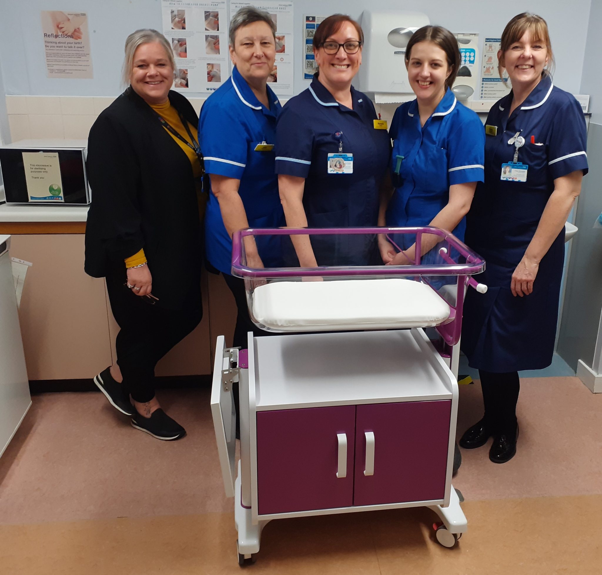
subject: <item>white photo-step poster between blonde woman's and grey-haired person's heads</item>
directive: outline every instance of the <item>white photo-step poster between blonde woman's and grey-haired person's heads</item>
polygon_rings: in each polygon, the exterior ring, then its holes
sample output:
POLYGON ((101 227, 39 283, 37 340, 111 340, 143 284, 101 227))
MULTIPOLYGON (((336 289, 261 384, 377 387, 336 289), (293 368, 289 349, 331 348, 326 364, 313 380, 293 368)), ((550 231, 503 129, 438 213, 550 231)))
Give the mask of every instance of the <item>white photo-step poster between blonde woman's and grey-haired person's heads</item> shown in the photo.
POLYGON ((229 75, 226 0, 162 0, 163 35, 176 59, 178 92, 215 92, 229 75))

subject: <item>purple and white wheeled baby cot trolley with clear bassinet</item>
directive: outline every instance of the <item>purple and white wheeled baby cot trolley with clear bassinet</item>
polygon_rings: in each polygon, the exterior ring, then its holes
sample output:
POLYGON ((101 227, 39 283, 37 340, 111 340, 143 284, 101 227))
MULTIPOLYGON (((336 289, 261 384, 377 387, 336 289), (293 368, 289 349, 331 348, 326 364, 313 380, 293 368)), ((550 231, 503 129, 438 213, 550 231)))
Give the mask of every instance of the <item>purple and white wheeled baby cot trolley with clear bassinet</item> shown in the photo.
POLYGON ((483 260, 427 227, 251 229, 233 240, 232 272, 245 280, 253 322, 283 332, 249 332, 246 350, 217 338, 211 410, 226 495, 235 498, 239 564, 255 562, 269 521, 377 509, 427 506, 442 522, 436 538, 453 547, 467 530, 452 485, 458 383, 424 328, 437 329, 447 352, 458 343, 466 287, 486 289, 471 278, 483 260), (383 232, 394 245, 414 234, 417 254, 426 237, 438 241, 409 266, 246 266, 247 235, 259 249, 268 234, 304 234, 313 244, 383 232))

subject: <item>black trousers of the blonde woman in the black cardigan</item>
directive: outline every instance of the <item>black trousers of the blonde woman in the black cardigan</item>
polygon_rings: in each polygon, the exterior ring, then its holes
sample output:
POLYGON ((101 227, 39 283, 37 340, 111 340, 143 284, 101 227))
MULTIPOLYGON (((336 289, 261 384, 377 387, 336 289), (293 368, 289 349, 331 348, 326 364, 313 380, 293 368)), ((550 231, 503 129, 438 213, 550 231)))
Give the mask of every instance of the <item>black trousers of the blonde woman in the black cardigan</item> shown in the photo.
POLYGON ((125 391, 144 403, 155 397, 155 365, 199 325, 203 310, 200 306, 167 309, 160 303, 150 305, 144 301, 146 297, 136 296, 123 285, 125 279, 125 270, 107 277, 111 310, 120 328, 117 365, 125 391))

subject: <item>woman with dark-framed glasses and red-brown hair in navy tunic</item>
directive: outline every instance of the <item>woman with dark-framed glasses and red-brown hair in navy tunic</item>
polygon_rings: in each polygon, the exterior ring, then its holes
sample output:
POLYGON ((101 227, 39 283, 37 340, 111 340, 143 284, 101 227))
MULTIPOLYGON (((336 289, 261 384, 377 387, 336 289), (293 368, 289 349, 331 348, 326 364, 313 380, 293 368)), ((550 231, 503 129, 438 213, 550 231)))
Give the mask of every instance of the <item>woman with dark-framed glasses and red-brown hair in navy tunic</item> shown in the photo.
MULTIPOLYGON (((364 34, 343 14, 327 17, 313 45, 319 70, 278 118, 276 172, 287 226, 376 226, 390 142, 386 122, 351 85, 364 34)), ((375 238, 298 236, 302 267, 379 263, 375 238)))

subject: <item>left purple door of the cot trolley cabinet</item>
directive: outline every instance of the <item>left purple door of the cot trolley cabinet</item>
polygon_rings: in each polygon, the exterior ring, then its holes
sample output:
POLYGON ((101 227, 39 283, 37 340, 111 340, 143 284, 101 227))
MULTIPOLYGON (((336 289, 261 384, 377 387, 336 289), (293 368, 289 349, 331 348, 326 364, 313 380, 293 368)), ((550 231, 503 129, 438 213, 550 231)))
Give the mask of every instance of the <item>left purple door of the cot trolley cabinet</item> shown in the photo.
POLYGON ((259 411, 259 514, 352 506, 354 440, 355 405, 259 411), (346 458, 338 434, 346 436, 346 458), (340 444, 346 477, 337 477, 340 444))

